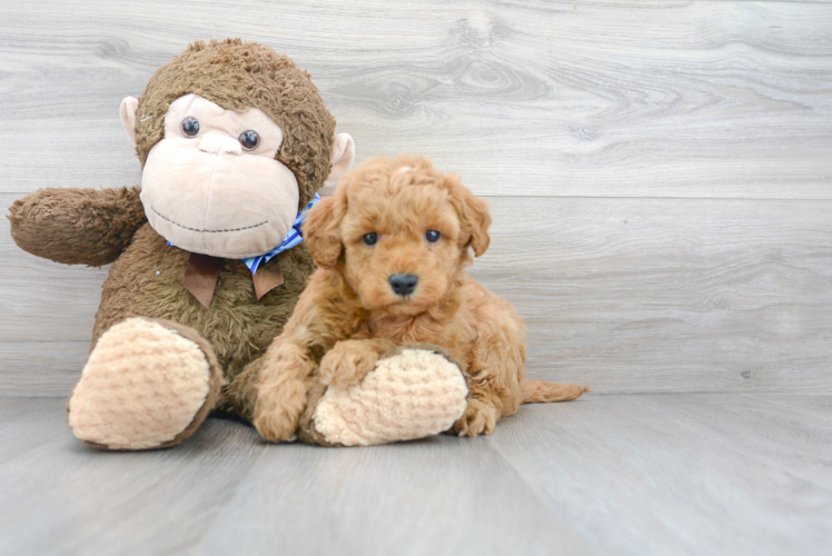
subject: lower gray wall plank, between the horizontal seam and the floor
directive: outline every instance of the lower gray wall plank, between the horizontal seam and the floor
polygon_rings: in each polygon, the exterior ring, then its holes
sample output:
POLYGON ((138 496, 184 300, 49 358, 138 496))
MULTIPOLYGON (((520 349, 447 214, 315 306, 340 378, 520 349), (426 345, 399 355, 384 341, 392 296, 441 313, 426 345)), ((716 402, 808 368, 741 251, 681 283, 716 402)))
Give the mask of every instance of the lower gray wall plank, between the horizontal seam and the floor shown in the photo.
MULTIPOLYGON (((529 377, 600 394, 832 391, 832 201, 491 201, 492 247, 471 272, 524 317, 529 377)), ((6 227, 0 391, 67 395, 106 270, 31 257, 6 227)))

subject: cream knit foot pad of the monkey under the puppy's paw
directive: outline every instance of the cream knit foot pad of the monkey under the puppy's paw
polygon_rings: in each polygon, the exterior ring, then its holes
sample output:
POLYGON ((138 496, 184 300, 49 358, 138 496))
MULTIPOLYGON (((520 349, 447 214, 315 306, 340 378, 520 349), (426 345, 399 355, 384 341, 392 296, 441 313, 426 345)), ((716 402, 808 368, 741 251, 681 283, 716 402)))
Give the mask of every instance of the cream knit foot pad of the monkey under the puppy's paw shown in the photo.
POLYGON ((330 386, 313 415, 333 445, 370 446, 444 433, 463 416, 468 388, 439 354, 404 349, 379 359, 355 386, 330 386))

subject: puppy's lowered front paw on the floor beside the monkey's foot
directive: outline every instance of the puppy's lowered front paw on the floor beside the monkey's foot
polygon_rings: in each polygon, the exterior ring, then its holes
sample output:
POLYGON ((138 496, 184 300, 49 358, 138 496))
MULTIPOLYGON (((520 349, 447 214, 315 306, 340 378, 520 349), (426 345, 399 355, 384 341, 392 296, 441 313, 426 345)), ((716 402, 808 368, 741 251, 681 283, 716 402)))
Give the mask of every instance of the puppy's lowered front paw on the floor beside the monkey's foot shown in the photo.
POLYGON ((284 380, 260 388, 255 405, 254 426, 271 443, 295 439, 298 418, 306 407, 306 386, 300 380, 284 380))

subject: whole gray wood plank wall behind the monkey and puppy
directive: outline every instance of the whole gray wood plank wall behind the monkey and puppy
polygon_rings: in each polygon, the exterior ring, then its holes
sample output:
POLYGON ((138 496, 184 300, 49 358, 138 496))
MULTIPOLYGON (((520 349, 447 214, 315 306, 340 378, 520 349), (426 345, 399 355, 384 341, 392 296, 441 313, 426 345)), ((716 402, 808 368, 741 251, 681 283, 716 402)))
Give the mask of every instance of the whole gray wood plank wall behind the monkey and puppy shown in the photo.
MULTIPOLYGON (((0 205, 140 180, 118 119, 189 40, 309 70, 358 161, 423 152, 491 201, 473 274, 528 374, 596 393, 832 389, 832 4, 0 4, 0 205)), ((65 396, 107 269, 0 224, 0 395, 65 396)))

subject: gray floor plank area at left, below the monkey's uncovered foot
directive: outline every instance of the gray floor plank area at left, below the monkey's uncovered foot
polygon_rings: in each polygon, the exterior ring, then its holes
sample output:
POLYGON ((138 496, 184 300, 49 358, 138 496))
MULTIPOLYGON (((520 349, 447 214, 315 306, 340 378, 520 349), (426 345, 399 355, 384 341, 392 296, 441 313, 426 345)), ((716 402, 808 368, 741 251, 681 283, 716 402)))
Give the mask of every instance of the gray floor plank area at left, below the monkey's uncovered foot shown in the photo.
POLYGON ((182 554, 256 460, 257 433, 236 423, 181 450, 98 453, 69 433, 62 400, 0 407, 2 554, 182 554), (60 435, 44 441, 47 430, 60 435))

